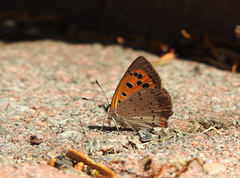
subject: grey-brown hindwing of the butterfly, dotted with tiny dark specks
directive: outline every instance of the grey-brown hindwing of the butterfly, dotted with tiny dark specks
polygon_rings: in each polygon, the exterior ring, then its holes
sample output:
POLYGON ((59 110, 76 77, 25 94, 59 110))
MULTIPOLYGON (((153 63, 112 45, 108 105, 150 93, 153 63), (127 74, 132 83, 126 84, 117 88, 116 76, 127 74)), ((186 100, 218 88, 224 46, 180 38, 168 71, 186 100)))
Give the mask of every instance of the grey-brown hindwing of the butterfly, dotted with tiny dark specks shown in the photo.
POLYGON ((172 114, 171 96, 165 88, 143 88, 118 105, 115 119, 124 127, 129 124, 133 129, 140 130, 167 127, 167 119, 172 114))

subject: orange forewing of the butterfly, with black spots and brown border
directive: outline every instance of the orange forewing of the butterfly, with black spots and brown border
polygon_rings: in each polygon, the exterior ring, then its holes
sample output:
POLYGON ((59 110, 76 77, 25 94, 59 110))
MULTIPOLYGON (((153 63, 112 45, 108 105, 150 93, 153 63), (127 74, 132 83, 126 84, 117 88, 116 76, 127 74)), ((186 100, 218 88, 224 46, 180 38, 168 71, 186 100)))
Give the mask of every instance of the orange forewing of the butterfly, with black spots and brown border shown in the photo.
POLYGON ((109 112, 113 112, 122 101, 141 88, 161 87, 161 78, 152 64, 140 56, 133 61, 119 82, 109 112))

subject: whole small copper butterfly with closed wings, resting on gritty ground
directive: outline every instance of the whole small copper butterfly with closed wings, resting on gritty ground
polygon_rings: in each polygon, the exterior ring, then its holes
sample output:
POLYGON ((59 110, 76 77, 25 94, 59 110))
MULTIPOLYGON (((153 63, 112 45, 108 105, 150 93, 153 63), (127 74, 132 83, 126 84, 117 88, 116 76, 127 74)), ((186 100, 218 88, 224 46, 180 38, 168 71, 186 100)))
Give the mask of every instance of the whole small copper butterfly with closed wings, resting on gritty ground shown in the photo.
POLYGON ((173 114, 169 92, 161 78, 143 56, 135 59, 119 82, 111 105, 105 108, 108 119, 133 130, 167 127, 173 114))

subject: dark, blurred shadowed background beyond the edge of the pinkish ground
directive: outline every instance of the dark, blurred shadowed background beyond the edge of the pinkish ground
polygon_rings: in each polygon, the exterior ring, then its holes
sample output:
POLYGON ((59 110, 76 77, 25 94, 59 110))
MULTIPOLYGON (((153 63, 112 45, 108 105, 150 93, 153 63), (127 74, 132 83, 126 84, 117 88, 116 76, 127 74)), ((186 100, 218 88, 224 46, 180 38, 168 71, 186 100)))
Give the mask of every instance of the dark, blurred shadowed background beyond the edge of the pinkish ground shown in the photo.
POLYGON ((239 9, 240 0, 0 1, 0 39, 101 41, 158 55, 173 48, 178 56, 207 56, 232 70, 239 66, 239 9), (228 50, 220 57, 219 47, 228 50))

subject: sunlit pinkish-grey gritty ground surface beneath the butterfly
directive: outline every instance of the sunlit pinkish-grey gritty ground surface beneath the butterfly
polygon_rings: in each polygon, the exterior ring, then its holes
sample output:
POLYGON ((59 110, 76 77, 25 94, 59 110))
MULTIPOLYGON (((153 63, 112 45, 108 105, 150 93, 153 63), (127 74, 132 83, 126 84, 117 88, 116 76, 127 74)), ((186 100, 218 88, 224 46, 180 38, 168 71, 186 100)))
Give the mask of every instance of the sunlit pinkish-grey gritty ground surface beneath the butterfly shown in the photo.
POLYGON ((111 99, 140 55, 158 59, 100 43, 1 43, 0 177, 84 177, 46 165, 67 148, 107 165, 116 177, 240 177, 239 73, 181 59, 155 66, 173 100, 169 127, 155 129, 146 143, 131 130, 118 133, 113 123, 100 130, 102 103, 81 97, 105 102, 98 80, 111 99), (42 143, 31 145, 31 136, 42 143))

